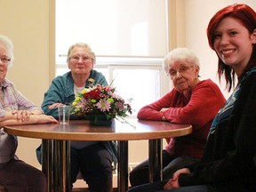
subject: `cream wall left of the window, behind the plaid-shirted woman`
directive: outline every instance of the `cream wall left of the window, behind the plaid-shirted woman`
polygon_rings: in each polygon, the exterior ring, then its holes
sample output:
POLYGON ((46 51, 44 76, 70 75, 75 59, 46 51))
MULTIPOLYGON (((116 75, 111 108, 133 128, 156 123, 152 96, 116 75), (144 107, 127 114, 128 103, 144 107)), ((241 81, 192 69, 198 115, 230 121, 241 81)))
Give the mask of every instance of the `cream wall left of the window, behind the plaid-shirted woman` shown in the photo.
MULTIPOLYGON (((15 60, 9 78, 29 100, 41 106, 49 87, 49 2, 51 0, 0 0, 0 34, 14 44, 15 60)), ((40 168, 36 147, 41 140, 19 137, 17 155, 40 168)))

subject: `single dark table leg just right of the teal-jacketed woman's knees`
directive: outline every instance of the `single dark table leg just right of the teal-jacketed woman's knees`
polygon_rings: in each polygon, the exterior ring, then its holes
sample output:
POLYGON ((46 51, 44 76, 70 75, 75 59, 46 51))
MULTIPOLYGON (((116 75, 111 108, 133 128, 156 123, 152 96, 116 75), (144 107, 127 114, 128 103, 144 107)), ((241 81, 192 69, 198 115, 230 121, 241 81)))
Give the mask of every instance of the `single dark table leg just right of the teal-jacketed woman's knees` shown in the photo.
POLYGON ((117 141, 117 188, 118 192, 128 190, 128 140, 117 141))

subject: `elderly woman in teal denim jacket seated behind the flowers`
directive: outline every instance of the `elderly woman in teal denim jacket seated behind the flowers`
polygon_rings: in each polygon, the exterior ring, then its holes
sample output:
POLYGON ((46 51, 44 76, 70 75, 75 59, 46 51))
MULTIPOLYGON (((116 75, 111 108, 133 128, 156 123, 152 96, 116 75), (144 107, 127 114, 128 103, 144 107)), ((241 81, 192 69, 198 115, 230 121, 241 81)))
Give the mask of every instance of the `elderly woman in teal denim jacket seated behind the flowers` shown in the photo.
MULTIPOLYGON (((105 76, 93 70, 95 54, 88 44, 71 45, 67 57, 70 71, 57 76, 44 94, 42 108, 47 115, 58 118, 58 106, 71 105, 84 87, 108 85, 105 76)), ((77 116, 71 115, 76 120, 77 116)), ((71 182, 80 171, 91 192, 112 191, 112 171, 116 166, 116 141, 71 141, 71 182), (113 165, 114 163, 114 165, 113 165)))

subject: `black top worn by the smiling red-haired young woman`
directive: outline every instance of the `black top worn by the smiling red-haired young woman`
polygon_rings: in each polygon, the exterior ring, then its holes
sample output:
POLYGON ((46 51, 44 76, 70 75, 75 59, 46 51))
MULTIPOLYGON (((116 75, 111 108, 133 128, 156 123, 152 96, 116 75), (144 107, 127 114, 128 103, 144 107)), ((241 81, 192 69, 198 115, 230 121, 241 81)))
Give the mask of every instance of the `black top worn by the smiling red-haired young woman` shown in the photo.
POLYGON ((180 175, 180 186, 256 191, 256 67, 237 85, 212 122, 202 160, 180 175))

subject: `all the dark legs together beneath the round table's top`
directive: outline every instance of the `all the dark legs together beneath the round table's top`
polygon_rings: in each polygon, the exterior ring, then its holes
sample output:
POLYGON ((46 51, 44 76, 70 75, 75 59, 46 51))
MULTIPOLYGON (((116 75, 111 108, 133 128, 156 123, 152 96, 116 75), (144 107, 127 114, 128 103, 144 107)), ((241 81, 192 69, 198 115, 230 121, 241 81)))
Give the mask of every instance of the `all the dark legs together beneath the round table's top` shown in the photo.
MULTIPOLYGON (((43 140, 42 170, 47 178, 48 192, 69 192, 70 183, 70 141, 43 140)), ((118 192, 128 189, 128 141, 117 141, 117 188, 118 192)), ((154 181, 154 172, 161 172, 162 140, 148 140, 149 181, 154 181)))

